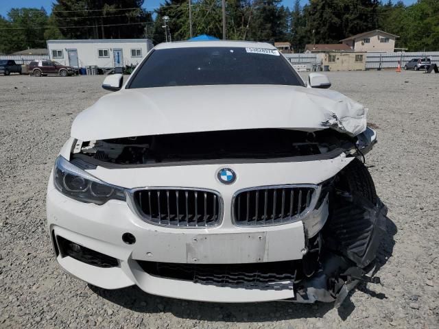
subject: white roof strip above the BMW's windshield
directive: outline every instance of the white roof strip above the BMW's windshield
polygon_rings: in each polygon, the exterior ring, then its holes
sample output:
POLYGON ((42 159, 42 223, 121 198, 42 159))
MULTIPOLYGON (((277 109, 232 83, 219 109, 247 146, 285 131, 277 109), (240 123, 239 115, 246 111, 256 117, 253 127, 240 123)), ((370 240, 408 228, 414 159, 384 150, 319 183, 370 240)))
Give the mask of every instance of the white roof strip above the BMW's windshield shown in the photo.
POLYGON ((209 41, 178 41, 178 42, 162 42, 154 49, 174 49, 174 48, 200 48, 200 47, 237 47, 237 48, 264 48, 273 49, 277 48, 274 45, 270 45, 267 42, 256 41, 234 41, 234 40, 209 40, 209 41))

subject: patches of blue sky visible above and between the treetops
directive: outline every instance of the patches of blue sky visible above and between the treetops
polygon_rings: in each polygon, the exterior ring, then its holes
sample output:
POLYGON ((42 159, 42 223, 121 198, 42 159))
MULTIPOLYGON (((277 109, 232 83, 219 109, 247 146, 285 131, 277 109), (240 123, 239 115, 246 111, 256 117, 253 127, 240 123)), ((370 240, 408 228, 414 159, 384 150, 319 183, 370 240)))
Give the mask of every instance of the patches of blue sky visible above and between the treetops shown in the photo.
MULTIPOLYGON (((0 15, 6 16, 8 14, 8 11, 11 8, 22 8, 22 7, 32 7, 32 8, 41 8, 44 7, 47 12, 50 12, 51 5, 54 2, 54 0, 0 0, 0 15)), ((154 10, 157 8, 160 3, 163 3, 164 0, 145 0, 145 3, 143 4, 143 8, 146 8, 147 10, 154 10)), ((300 0, 300 2, 303 4, 308 3, 308 0, 300 0)), ((387 2, 387 0, 385 0, 387 2)), ((396 1, 393 1, 396 2, 396 1)), ((412 3, 415 3, 416 0, 403 0, 403 3, 405 5, 411 5, 412 3)), ((294 0, 283 0, 283 5, 292 7, 294 4, 294 0)))

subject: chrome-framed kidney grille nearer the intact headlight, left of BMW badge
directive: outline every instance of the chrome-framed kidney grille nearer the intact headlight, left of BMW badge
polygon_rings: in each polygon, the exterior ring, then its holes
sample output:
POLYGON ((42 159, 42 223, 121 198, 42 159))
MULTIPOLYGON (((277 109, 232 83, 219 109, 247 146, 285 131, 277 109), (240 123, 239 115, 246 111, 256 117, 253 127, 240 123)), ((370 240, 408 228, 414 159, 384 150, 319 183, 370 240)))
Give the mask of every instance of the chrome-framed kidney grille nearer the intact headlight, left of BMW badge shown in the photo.
POLYGON ((177 228, 219 225, 222 199, 214 191, 198 189, 147 189, 134 192, 134 205, 149 223, 177 228))

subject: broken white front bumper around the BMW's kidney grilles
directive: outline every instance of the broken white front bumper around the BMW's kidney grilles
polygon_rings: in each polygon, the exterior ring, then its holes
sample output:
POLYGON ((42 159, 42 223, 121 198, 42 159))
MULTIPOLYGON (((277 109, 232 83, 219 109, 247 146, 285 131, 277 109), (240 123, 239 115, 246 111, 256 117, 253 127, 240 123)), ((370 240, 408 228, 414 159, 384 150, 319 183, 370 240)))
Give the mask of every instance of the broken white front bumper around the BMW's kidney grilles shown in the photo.
MULTIPOLYGON (((234 168, 241 175, 232 186, 215 180, 217 165, 93 170, 92 174, 98 178, 126 188, 147 186, 146 182, 157 186, 159 184, 156 182, 165 177, 172 180, 173 185, 189 186, 191 180, 188 178, 194 177, 191 171, 198 172, 204 184, 219 191, 224 199, 224 218, 221 225, 215 228, 155 226, 139 218, 126 202, 110 200, 97 206, 70 199, 54 188, 51 178, 47 191, 47 222, 52 242, 55 249, 58 249, 58 263, 71 275, 104 289, 119 289, 136 284, 143 291, 154 295, 207 302, 261 302, 292 298, 294 289, 291 286, 282 289, 246 289, 200 284, 152 275, 139 262, 233 265, 301 260, 306 245, 302 221, 279 226, 237 227, 230 218, 230 204, 233 193, 241 188, 279 184, 285 180, 292 184, 318 184, 335 175, 350 159, 340 157, 315 162, 318 163, 235 165, 234 168), (261 175, 267 172, 269 166, 273 175, 261 175), (309 169, 313 166, 316 166, 316 171, 311 171, 314 173, 311 179, 309 169), (317 170, 320 166, 326 168, 317 170), (206 178, 203 179, 204 172, 206 178), (128 245, 123 242, 122 236, 127 232, 135 236, 136 243, 128 245), (115 258, 119 265, 97 267, 66 256, 59 252, 57 236, 115 258)), ((316 223, 320 217, 326 219, 324 205, 315 212, 315 217, 313 220, 316 223)))

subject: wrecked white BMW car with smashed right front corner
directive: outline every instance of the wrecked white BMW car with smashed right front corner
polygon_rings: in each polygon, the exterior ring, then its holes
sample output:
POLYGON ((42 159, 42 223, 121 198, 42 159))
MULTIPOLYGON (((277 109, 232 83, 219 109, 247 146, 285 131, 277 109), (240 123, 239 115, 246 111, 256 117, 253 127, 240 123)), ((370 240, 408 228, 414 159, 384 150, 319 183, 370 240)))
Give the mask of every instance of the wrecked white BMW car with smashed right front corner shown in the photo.
POLYGON ((47 188, 67 273, 208 302, 333 302, 373 267, 386 208, 367 109, 272 45, 169 42, 81 112, 47 188))

